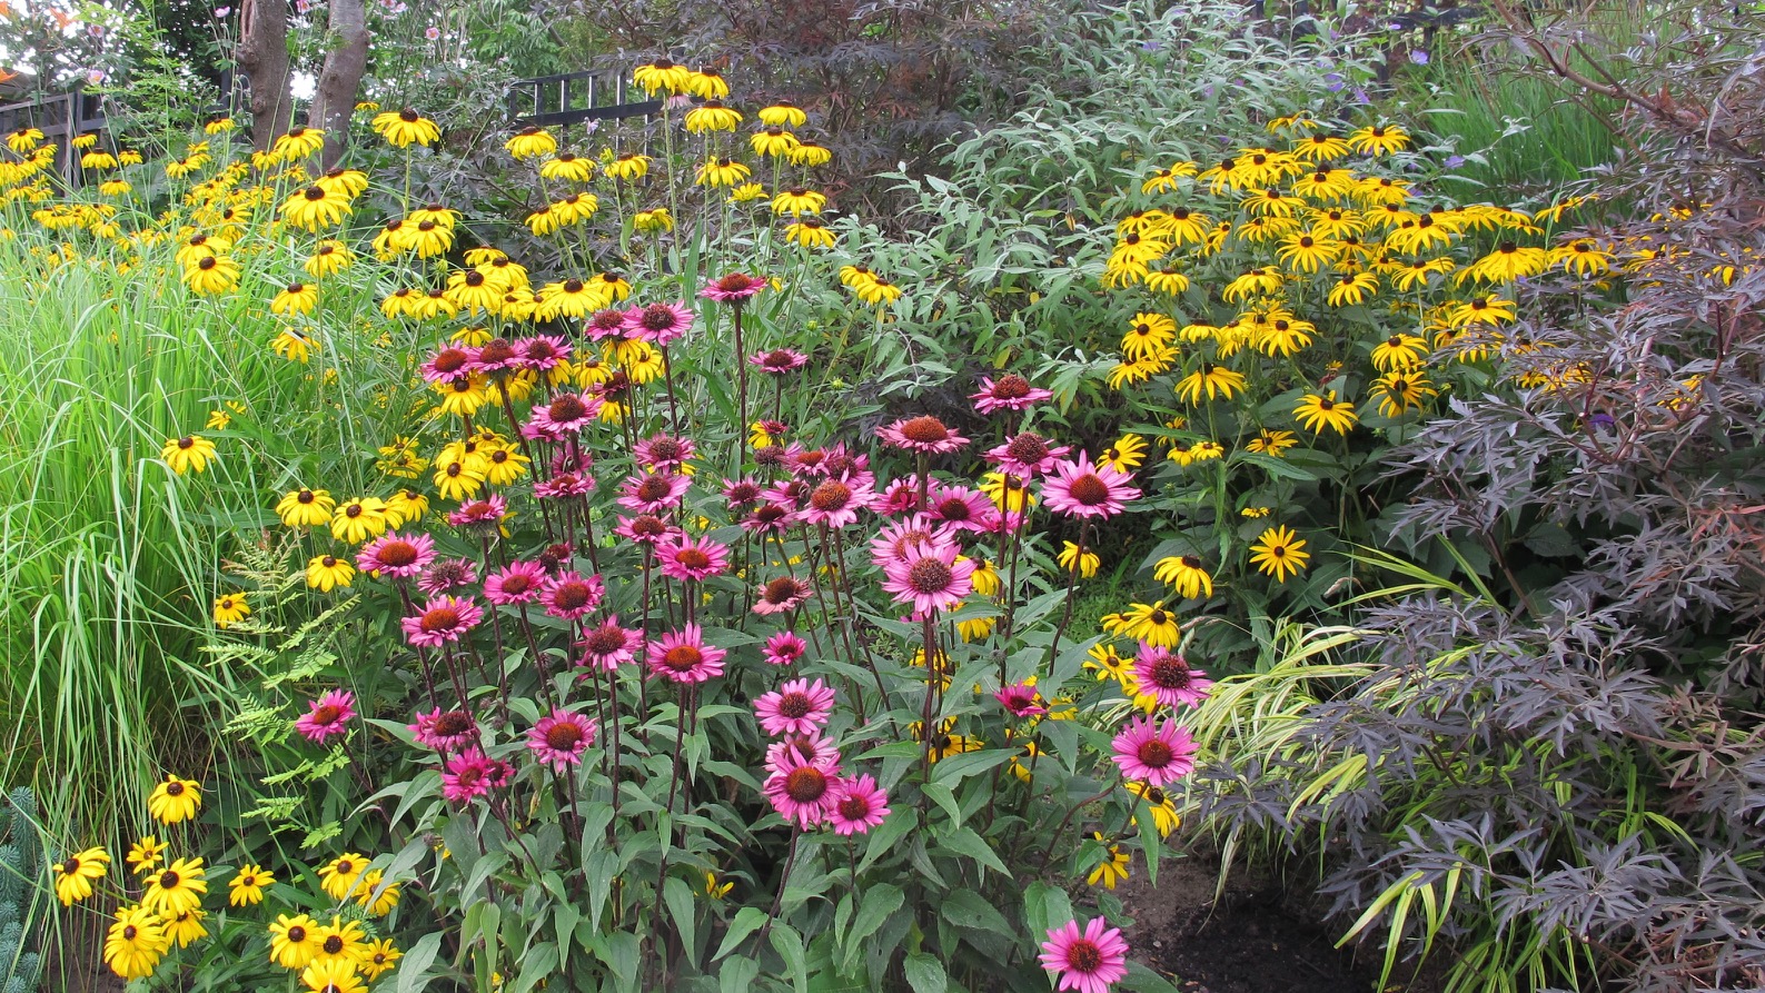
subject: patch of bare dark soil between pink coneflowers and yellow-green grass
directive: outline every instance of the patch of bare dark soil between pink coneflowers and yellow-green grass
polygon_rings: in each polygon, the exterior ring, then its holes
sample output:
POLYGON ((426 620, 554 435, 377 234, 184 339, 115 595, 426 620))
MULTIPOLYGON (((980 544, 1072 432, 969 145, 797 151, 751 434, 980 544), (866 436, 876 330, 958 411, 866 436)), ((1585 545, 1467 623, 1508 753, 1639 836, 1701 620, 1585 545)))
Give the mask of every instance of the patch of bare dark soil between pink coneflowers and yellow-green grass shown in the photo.
POLYGON ((1216 901, 1218 871, 1214 859, 1195 857, 1161 864, 1156 887, 1140 873, 1121 885, 1135 959, 1184 993, 1373 991, 1377 965, 1334 947, 1340 930, 1320 922, 1310 894, 1234 875, 1216 901))

